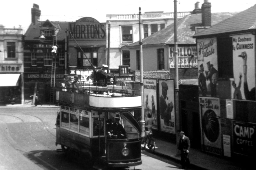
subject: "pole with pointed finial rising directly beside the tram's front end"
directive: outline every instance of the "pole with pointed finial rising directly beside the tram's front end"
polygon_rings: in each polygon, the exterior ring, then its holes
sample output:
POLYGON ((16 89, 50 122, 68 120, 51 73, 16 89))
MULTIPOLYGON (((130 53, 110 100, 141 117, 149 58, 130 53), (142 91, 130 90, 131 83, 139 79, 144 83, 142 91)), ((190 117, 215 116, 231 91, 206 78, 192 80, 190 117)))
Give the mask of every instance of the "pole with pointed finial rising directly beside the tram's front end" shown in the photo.
MULTIPOLYGON (((139 7, 139 10, 141 8, 139 7)), ((143 93, 143 55, 142 55, 142 40, 141 40, 141 12, 139 11, 139 34, 140 34, 140 94, 141 94, 141 111, 140 111, 140 126, 141 136, 145 136, 145 120, 144 120, 144 93, 143 93)))

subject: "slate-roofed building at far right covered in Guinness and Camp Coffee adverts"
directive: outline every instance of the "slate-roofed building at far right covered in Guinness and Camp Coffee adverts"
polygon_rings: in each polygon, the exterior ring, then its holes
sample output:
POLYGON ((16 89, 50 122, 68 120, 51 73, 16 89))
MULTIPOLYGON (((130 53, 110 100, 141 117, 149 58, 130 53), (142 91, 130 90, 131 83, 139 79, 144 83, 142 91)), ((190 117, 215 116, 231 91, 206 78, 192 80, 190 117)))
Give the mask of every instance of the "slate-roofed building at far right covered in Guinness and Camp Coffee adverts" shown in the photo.
POLYGON ((199 88, 205 152, 255 158, 255 12, 256 5, 194 36, 205 86, 199 88))

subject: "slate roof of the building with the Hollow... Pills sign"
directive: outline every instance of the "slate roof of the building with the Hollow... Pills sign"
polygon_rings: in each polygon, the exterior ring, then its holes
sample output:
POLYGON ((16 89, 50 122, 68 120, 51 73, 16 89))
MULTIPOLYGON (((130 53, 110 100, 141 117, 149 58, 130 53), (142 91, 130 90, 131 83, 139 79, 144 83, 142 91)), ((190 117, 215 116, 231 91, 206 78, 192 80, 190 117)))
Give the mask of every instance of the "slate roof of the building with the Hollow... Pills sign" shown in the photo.
MULTIPOLYGON (((212 25, 219 23, 220 21, 229 18, 237 12, 218 12, 212 13, 212 25)), ((177 20, 177 39, 178 44, 196 44, 196 40, 192 38, 195 34, 195 27, 202 26, 202 14, 190 14, 177 20)), ((164 29, 144 38, 142 40, 143 45, 163 45, 174 44, 174 23, 165 27, 164 29)), ((134 42, 126 47, 132 47, 139 45, 138 42, 134 42)))

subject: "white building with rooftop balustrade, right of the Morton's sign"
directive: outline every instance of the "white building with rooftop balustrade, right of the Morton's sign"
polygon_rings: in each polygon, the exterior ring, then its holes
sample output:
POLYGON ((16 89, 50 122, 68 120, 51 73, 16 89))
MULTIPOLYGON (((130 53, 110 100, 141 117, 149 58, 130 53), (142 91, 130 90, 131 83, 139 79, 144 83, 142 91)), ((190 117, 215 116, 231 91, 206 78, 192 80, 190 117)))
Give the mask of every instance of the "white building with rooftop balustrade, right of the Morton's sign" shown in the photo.
MULTIPOLYGON (((178 17, 182 18, 190 13, 178 12, 178 17)), ((172 24, 173 18, 173 12, 154 11, 143 13, 141 15, 142 38, 146 38, 172 24)), ((117 69, 119 65, 132 66, 131 54, 126 46, 139 41, 139 14, 107 15, 107 44, 108 22, 110 22, 110 68, 117 69)))

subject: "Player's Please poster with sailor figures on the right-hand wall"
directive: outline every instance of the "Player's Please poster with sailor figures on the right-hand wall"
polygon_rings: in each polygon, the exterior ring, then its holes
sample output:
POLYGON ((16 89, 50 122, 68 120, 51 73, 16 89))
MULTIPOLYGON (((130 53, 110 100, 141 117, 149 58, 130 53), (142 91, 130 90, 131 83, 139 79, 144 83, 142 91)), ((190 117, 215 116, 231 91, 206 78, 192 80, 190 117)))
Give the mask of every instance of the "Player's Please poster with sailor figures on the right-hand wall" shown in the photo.
POLYGON ((217 39, 198 39, 197 50, 199 96, 217 97, 217 39))

